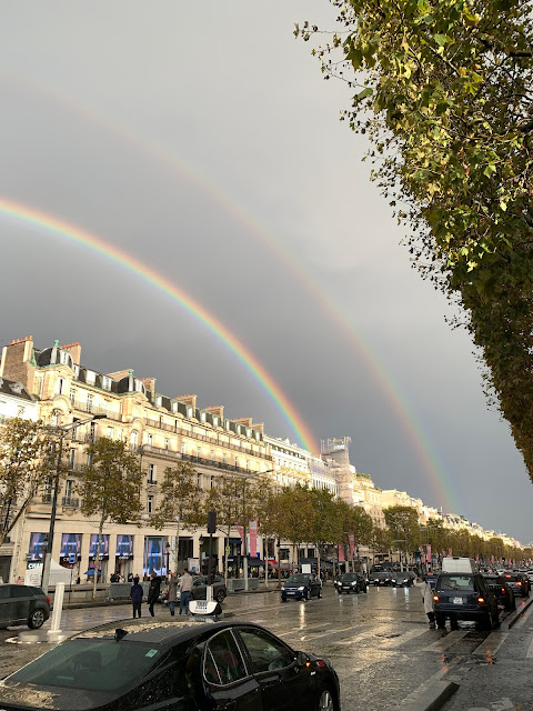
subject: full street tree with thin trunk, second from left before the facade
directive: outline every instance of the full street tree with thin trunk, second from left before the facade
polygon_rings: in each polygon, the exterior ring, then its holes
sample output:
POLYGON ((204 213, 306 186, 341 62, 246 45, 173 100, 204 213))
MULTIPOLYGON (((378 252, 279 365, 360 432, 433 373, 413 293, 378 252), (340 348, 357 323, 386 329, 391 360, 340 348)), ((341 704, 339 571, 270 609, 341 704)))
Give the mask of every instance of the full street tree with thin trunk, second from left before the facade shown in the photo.
POLYGON ((108 521, 139 522, 144 507, 140 498, 142 472, 139 461, 128 451, 124 442, 102 437, 87 448, 87 453, 90 463, 80 472, 76 490, 81 497, 82 514, 98 517, 92 587, 94 600, 103 527, 108 521))

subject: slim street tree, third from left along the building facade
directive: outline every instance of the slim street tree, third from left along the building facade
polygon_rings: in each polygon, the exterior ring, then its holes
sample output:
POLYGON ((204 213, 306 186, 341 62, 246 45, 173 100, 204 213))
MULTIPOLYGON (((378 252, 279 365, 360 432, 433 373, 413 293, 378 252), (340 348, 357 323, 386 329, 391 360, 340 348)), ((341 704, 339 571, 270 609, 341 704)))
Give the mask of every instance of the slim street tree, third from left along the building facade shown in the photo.
POLYGON ((197 470, 189 462, 167 467, 159 489, 159 505, 151 517, 152 525, 161 530, 165 523, 175 525, 174 565, 178 572, 180 530, 199 522, 201 507, 197 487, 197 470))

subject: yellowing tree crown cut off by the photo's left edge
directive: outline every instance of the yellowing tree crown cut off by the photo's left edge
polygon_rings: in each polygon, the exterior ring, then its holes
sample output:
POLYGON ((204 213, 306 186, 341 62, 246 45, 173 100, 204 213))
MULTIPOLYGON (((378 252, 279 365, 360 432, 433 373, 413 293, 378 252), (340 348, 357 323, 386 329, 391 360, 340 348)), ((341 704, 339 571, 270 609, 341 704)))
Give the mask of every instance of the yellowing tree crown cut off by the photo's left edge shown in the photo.
POLYGON ((42 422, 12 418, 0 425, 0 545, 56 468, 53 447, 53 430, 42 422))

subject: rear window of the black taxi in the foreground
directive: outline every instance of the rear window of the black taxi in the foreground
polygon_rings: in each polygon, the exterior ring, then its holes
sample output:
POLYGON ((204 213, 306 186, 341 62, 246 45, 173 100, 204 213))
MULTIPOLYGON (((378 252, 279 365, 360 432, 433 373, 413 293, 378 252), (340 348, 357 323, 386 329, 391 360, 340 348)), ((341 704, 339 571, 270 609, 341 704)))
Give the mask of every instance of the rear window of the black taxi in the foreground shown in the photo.
POLYGON ((87 691, 117 691, 138 681, 163 655, 158 645, 141 642, 80 639, 63 642, 9 677, 31 683, 87 691))

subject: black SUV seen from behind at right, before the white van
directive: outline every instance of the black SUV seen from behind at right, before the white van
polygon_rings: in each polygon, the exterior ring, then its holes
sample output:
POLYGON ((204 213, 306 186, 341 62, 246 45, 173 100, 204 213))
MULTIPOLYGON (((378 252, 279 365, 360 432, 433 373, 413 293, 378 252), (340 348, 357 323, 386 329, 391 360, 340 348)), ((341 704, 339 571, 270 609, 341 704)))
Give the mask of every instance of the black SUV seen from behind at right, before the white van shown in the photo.
POLYGON ((497 602, 481 573, 441 573, 434 595, 435 622, 443 628, 446 618, 452 630, 459 620, 479 622, 485 629, 499 625, 497 602))

